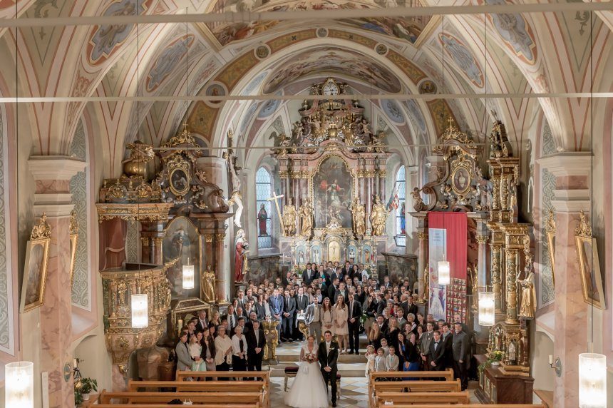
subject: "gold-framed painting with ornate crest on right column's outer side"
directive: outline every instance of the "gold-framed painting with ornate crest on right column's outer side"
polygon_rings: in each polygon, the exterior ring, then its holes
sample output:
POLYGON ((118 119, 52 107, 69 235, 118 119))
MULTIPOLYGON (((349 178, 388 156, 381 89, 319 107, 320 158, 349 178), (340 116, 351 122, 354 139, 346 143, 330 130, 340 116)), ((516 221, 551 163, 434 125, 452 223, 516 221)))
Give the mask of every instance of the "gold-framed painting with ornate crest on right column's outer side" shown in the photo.
POLYGON ((598 259, 596 240, 592 237, 592 227, 587 223, 583 210, 579 214, 579 226, 575 228, 575 245, 581 270, 583 300, 601 310, 605 308, 602 274, 598 259))

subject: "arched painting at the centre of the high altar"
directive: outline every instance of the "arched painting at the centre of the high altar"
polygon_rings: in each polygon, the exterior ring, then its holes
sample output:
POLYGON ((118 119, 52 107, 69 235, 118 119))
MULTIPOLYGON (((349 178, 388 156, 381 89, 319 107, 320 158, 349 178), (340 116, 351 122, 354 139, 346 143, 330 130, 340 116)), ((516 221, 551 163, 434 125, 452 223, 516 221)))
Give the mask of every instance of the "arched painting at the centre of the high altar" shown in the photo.
POLYGON ((354 178, 339 156, 325 158, 313 177, 315 228, 326 228, 336 220, 351 228, 351 201, 354 178))

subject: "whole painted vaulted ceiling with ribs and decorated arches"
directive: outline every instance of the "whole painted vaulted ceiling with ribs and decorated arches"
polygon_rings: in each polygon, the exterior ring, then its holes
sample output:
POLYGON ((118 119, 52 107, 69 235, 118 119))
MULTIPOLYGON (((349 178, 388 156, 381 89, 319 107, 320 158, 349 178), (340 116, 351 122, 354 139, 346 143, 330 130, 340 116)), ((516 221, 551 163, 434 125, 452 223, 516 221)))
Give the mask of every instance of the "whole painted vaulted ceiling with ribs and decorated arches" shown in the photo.
MULTIPOLYGON (((524 0, 0 0, 0 17, 120 16, 379 9, 396 6, 504 4, 524 0)), ((0 92, 19 96, 295 95, 332 76, 355 93, 426 93, 426 100, 361 101, 399 144, 436 141, 451 116, 484 137, 490 111, 518 150, 535 115, 547 118, 558 147, 586 148, 589 100, 505 98, 444 101, 436 93, 610 91, 612 13, 497 14, 341 19, 220 21, 214 24, 51 26, 1 31, 0 92), (590 46, 594 59, 590 61, 590 46), (5 53, 6 52, 6 53, 5 53), (12 71, 11 71, 12 66, 12 71), (12 90, 12 91, 11 91, 12 90)), ((297 101, 31 104, 33 151, 66 154, 79 121, 88 121, 117 175, 125 143, 159 146, 187 120, 203 146, 272 143, 297 119, 297 101)), ((400 148, 411 160, 417 148, 400 148)), ((217 154, 216 152, 212 154, 217 154)), ((255 153, 254 153, 255 154, 255 153)), ((258 154, 261 154, 258 153, 258 154)))

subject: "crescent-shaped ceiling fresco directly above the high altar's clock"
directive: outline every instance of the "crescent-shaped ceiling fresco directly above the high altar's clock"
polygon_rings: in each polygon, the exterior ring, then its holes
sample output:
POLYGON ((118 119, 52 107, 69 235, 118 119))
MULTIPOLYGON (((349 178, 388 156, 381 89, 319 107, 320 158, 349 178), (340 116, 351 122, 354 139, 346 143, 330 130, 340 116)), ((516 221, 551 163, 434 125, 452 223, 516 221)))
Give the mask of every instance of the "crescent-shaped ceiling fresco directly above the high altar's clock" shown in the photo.
POLYGON ((273 93, 314 73, 341 74, 344 77, 357 78, 388 93, 401 91, 400 81, 388 68, 369 61, 366 56, 356 51, 324 47, 293 56, 290 63, 284 64, 284 68, 272 74, 264 86, 264 92, 273 93))

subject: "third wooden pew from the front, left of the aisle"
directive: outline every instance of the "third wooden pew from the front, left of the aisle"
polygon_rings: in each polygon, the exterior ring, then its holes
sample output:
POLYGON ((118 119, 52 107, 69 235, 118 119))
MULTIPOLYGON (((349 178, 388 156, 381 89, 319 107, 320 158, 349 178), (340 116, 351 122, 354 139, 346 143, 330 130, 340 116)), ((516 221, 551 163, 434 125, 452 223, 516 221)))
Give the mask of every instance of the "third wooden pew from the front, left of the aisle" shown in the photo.
POLYGON ((98 396, 99 404, 110 406, 134 404, 168 404, 172 399, 192 401, 195 404, 210 404, 217 407, 232 407, 244 404, 262 407, 261 392, 106 392, 98 396))

